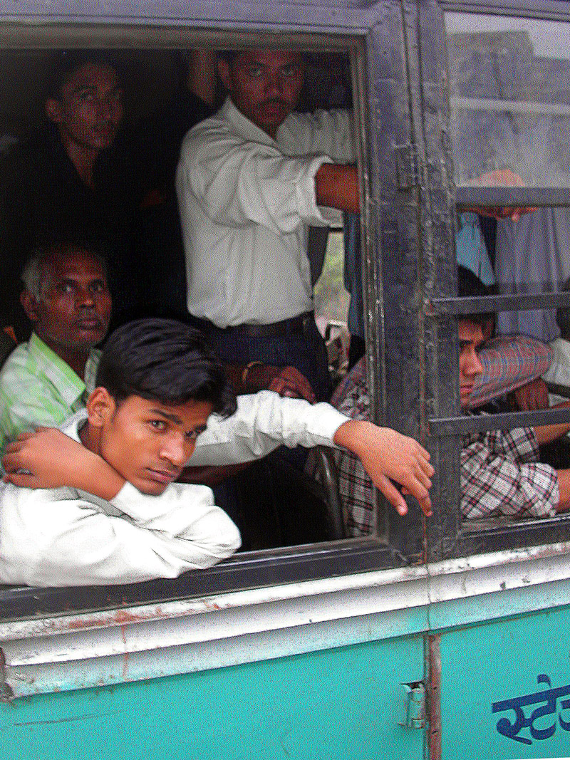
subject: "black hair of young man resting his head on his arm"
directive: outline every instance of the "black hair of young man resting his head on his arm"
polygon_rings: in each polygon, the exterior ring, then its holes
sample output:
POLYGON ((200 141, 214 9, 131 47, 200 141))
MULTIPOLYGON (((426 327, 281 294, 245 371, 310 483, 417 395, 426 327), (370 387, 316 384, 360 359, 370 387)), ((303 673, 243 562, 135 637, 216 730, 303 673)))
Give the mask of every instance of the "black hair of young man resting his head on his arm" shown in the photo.
POLYGON ((236 410, 236 398, 202 334, 174 319, 138 319, 113 332, 103 349, 97 386, 119 404, 140 396, 173 405, 208 401, 222 416, 236 410))

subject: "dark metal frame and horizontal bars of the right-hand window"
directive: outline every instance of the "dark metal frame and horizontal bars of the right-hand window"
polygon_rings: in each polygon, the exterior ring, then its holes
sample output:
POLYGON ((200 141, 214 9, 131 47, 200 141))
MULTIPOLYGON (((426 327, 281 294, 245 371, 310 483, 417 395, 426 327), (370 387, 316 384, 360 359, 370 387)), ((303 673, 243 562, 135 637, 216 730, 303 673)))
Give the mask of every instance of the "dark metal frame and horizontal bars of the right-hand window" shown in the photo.
MULTIPOLYGON (((432 67, 432 71, 439 71, 442 76, 442 66, 447 66, 445 50, 445 24, 443 14, 446 11, 472 12, 479 14, 502 14, 517 17, 540 17, 544 20, 570 21, 570 6, 566 3, 554 2, 430 2, 420 12, 418 26, 420 30, 429 28, 433 30, 439 19, 442 27, 443 46, 440 52, 444 57, 438 62, 431 50, 428 49, 426 66, 432 67), (548 7, 546 7, 548 6, 548 7), (435 20, 435 22, 434 22, 435 20)), ((421 31, 420 31, 421 37, 421 31)), ((420 39, 425 51, 425 38, 420 39)), ((442 81, 447 81, 442 79, 442 81)), ((445 100, 449 99, 449 84, 442 94, 445 100)), ((430 93, 432 95, 432 93, 430 93)), ((433 110, 435 98, 426 98, 423 112, 433 110)), ((449 104, 440 101, 439 106, 449 116, 449 104)), ((449 124, 449 118, 446 120, 449 124)), ((427 130, 426 130, 427 131, 427 130)), ((435 163, 438 157, 449 164, 451 158, 451 141, 446 145, 442 141, 433 140, 428 142, 426 148, 426 164, 435 163)), ((452 167, 448 176, 453 177, 452 167)), ((469 206, 570 206, 568 204, 568 190, 565 188, 496 188, 496 187, 453 187, 452 180, 448 188, 445 188, 441 176, 437 173, 429 173, 427 192, 436 198, 435 210, 445 218, 444 237, 454 236, 455 211, 461 211, 461 207, 469 206), (432 180, 430 183, 429 180, 432 180), (451 187, 453 192, 445 195, 446 189, 451 187)), ((424 291, 423 311, 429 322, 426 331, 426 386, 435 385, 435 392, 427 394, 426 432, 431 435, 432 456, 435 459, 436 472, 435 485, 432 490, 439 496, 446 495, 450 505, 447 514, 442 513, 442 504, 439 499, 438 514, 435 520, 426 525, 426 543, 428 544, 427 555, 429 559, 450 559, 452 557, 470 556, 474 554, 495 552, 504 549, 515 549, 531 546, 543 546, 546 544, 562 543, 570 540, 570 515, 559 515, 554 518, 525 519, 524 521, 502 521, 501 519, 489 519, 486 521, 461 521, 460 510, 460 487, 459 487, 459 454, 461 451, 461 433, 469 432, 474 424, 472 417, 461 416, 458 398, 457 381, 452 394, 443 397, 437 393, 437 380, 435 370, 445 366, 451 372, 453 378, 458 377, 458 339, 456 318, 458 315, 467 313, 483 313, 499 311, 501 309, 524 308, 524 306, 567 306, 570 294, 568 293, 540 293, 534 295, 515 296, 488 296, 480 299, 464 299, 457 295, 457 270, 452 257, 451 264, 438 261, 437 241, 432 242, 428 252, 435 255, 426 256, 428 277, 426 278, 426 290, 424 291), (432 287, 431 283, 437 283, 432 287), (451 334, 452 340, 442 340, 442 333, 451 334), (455 505, 455 506, 453 506, 455 505)), ((451 245, 451 250, 454 246, 451 245)), ((545 410, 541 412, 508 413, 493 416, 495 419, 483 423, 485 429, 512 428, 520 425, 533 425, 536 423, 555 423, 570 420, 568 410, 545 410)), ((481 427, 481 425, 478 425, 481 427)), ((562 551, 562 547, 561 547, 562 551)))

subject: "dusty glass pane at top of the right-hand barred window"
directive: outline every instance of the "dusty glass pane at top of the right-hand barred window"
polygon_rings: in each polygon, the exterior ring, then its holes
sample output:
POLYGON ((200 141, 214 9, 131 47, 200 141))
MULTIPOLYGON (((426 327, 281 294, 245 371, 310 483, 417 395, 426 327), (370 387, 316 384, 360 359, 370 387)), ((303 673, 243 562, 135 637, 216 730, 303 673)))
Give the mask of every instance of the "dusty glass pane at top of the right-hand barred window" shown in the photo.
POLYGON ((446 13, 458 185, 570 185, 570 25, 446 13))

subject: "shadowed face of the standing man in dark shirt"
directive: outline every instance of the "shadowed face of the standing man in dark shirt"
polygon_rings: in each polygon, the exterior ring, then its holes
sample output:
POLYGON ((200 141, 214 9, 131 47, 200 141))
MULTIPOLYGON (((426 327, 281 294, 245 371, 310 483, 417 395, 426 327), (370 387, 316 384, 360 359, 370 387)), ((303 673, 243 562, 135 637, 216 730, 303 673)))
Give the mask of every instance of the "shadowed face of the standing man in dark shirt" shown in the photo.
POLYGON ((122 90, 109 66, 87 63, 62 87, 46 112, 58 125, 64 144, 97 153, 115 140, 123 116, 122 90))

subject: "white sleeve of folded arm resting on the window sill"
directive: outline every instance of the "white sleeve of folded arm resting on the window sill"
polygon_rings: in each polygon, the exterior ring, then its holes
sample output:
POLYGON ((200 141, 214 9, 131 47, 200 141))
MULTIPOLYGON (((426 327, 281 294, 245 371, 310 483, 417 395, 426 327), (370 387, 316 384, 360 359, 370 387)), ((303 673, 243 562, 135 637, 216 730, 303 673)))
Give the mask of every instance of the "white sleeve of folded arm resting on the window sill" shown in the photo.
POLYGON ((112 502, 74 489, 0 487, 3 583, 176 578, 214 565, 239 545, 239 530, 205 486, 173 483, 161 496, 145 496, 127 483, 112 502))

